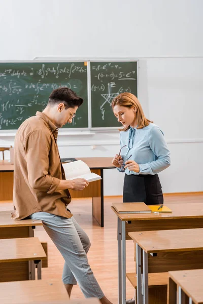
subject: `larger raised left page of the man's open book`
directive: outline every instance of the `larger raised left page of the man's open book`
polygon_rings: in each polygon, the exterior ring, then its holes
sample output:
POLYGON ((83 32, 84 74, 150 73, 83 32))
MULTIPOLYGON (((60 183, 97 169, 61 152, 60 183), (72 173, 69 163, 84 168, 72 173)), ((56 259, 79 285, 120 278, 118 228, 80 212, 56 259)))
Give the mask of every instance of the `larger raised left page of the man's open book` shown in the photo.
POLYGON ((91 173, 87 164, 81 160, 63 164, 62 166, 65 172, 65 179, 78 178, 78 176, 91 173))

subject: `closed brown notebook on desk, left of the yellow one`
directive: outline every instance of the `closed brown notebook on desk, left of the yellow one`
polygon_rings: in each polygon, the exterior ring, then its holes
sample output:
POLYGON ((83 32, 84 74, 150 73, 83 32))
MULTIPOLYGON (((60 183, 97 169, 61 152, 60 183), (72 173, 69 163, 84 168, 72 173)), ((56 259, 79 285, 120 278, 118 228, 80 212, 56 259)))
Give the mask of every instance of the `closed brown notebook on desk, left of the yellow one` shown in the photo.
POLYGON ((145 203, 113 203, 113 207, 119 214, 152 212, 145 203))

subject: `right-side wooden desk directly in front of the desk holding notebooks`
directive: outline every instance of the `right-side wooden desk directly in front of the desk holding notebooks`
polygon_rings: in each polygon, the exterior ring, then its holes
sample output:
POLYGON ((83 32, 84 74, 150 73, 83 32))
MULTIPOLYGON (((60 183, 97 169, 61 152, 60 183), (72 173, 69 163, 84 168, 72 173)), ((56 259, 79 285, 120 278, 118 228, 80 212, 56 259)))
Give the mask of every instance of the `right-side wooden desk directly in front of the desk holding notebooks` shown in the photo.
POLYGON ((162 272, 203 268, 203 229, 130 232, 129 236, 136 243, 138 304, 149 304, 149 253, 156 253, 152 258, 162 272))

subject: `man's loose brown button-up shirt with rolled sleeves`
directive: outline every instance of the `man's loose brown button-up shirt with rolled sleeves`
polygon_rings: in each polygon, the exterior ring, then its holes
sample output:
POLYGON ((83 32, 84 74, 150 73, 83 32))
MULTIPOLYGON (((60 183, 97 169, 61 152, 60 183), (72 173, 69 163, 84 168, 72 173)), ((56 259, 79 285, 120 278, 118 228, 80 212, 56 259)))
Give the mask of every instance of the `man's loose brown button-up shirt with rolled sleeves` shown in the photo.
POLYGON ((13 219, 35 212, 70 218, 68 190, 57 191, 65 179, 57 146, 58 128, 41 112, 22 123, 14 144, 13 219))

